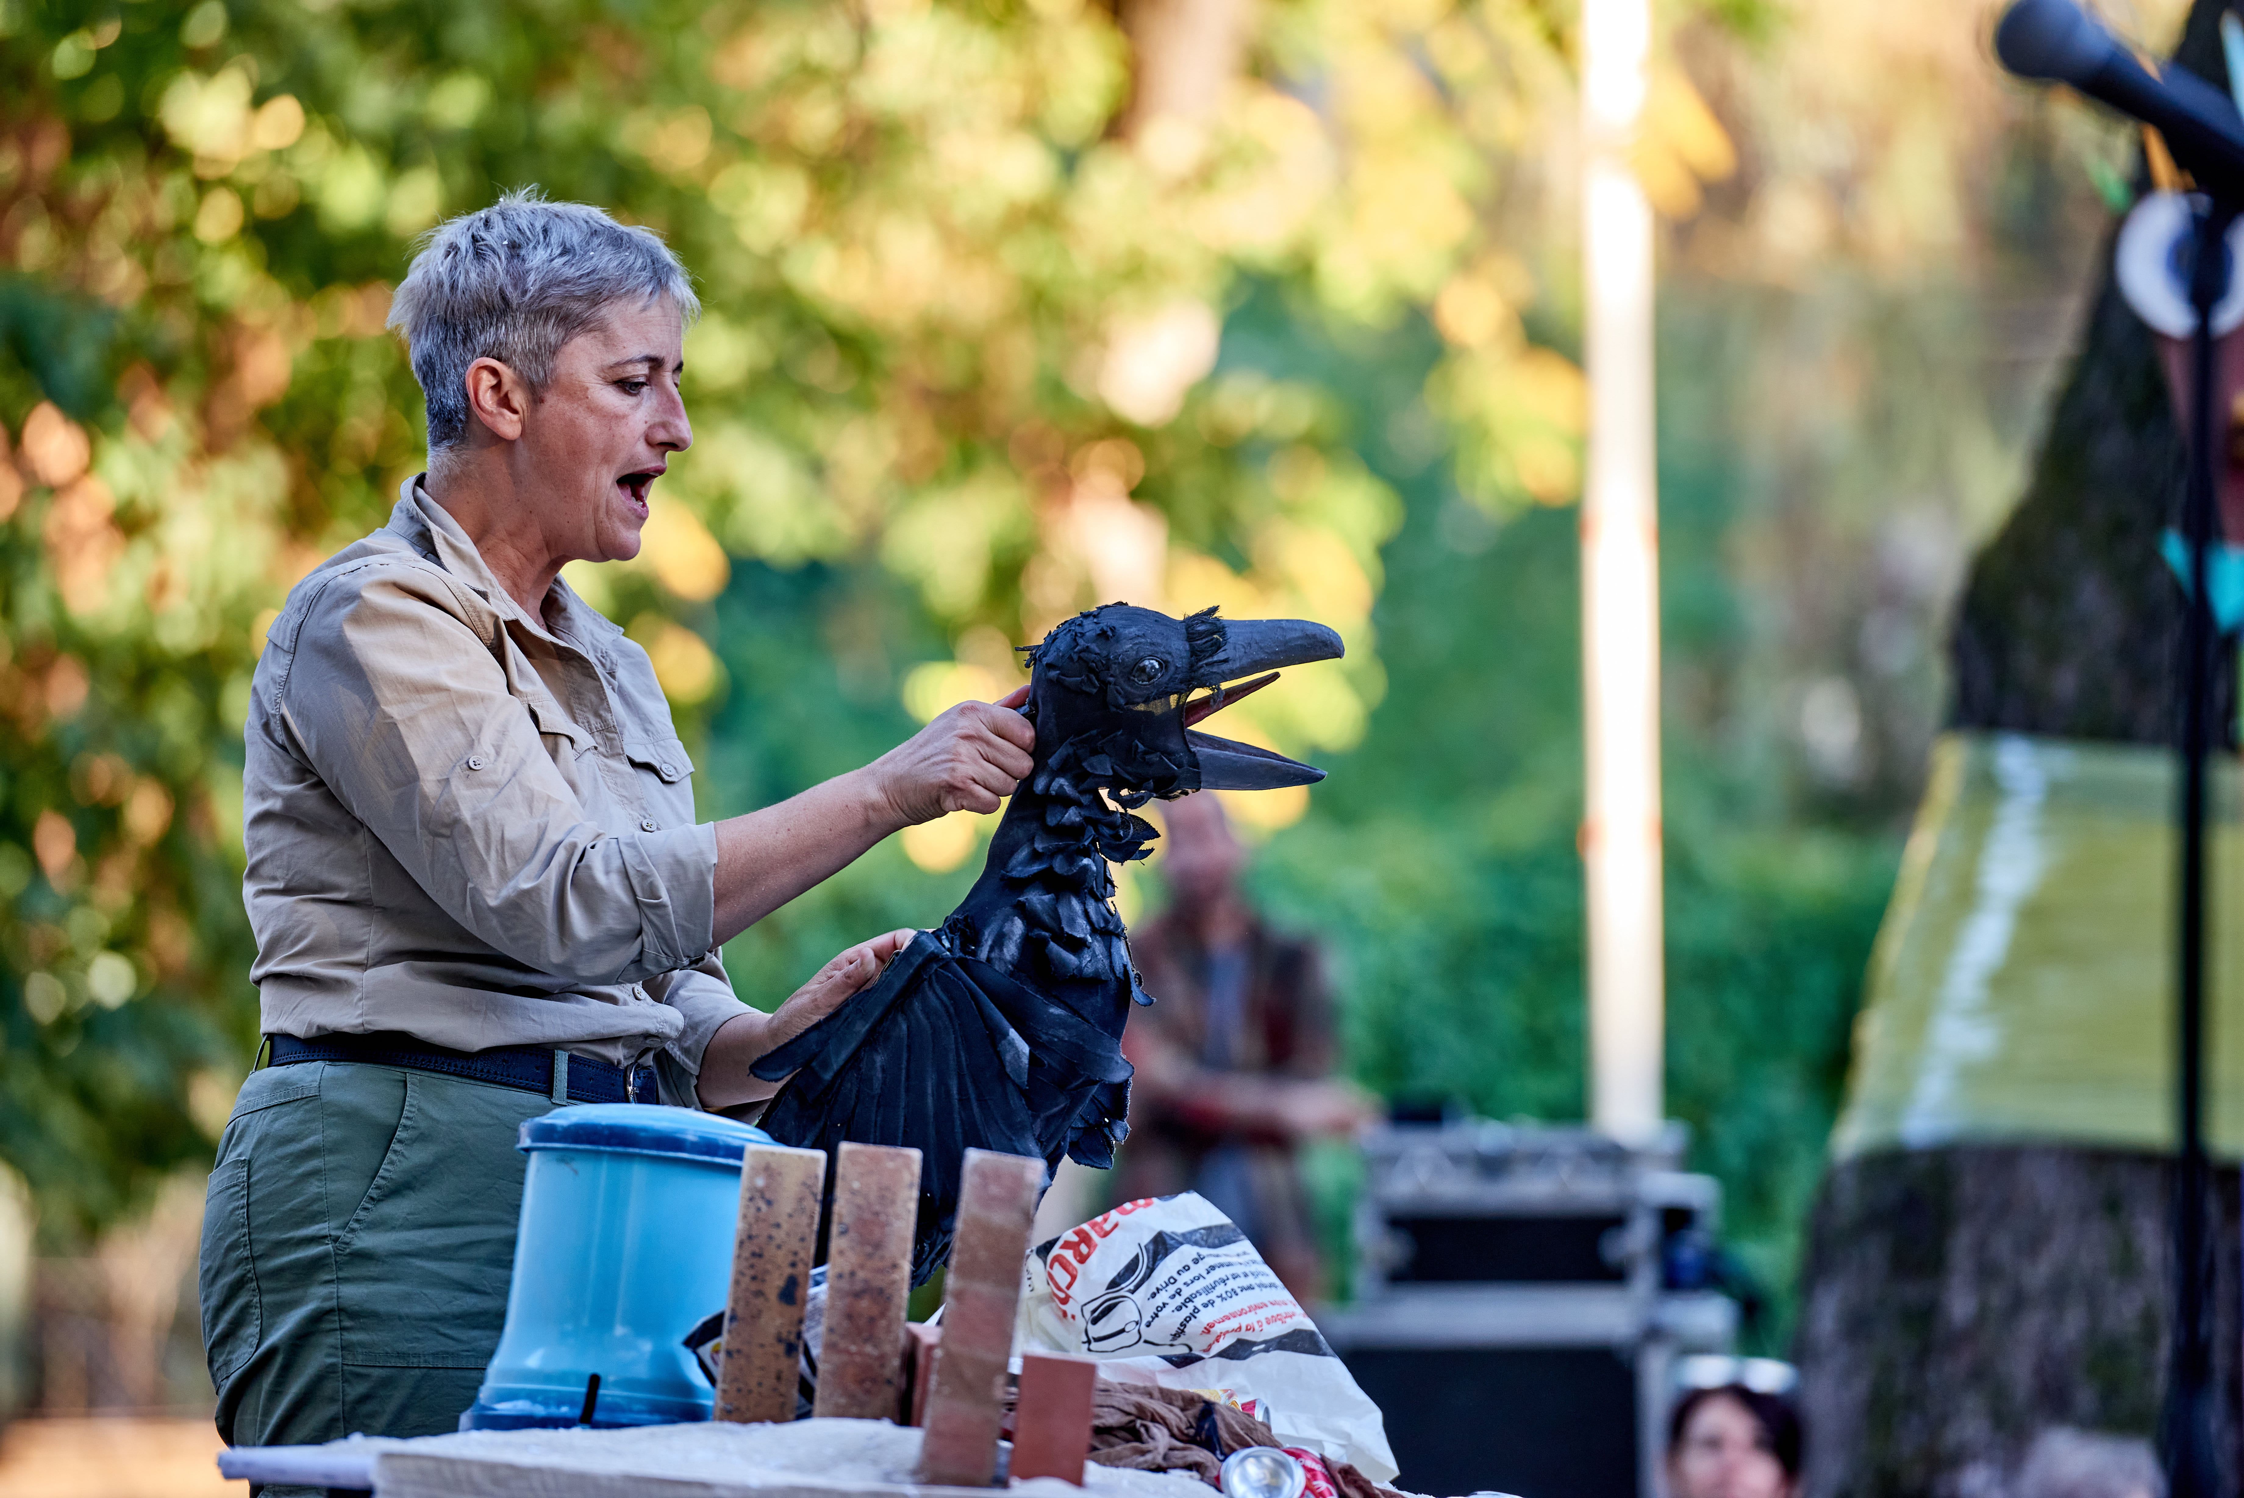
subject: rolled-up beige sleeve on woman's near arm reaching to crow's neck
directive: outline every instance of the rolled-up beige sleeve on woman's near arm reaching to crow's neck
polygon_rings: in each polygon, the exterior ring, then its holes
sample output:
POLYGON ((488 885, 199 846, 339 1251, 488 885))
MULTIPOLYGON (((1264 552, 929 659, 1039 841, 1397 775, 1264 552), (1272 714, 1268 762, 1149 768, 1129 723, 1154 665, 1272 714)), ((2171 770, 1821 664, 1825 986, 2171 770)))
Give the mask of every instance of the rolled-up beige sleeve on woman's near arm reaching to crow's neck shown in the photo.
MULTIPOLYGON (((429 896, 507 957, 581 984, 700 961, 716 829, 608 833, 438 573, 381 566, 305 611, 280 692, 289 739, 429 896)), ((711 1026, 714 1029, 714 1026, 711 1026)), ((700 1056, 698 1047, 693 1051, 700 1056)))

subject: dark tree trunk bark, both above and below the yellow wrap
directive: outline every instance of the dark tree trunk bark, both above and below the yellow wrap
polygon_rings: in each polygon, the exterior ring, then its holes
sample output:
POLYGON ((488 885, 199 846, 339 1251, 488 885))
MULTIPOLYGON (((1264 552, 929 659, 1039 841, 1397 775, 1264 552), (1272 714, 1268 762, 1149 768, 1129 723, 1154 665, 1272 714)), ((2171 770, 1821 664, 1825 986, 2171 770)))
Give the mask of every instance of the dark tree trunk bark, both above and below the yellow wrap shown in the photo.
MULTIPOLYGON (((2177 63, 2226 88, 2222 9, 2195 0, 2177 63)), ((2181 591, 2156 548, 2179 521, 2183 476, 2150 332, 2107 270, 2026 494, 1966 582, 1955 728, 2174 741, 2181 591)), ((2215 721, 2235 721, 2228 669, 2215 721)), ((2038 1485, 2022 1478, 2029 1455, 2042 1471, 2069 1428, 2148 1442, 2165 1395, 2170 1179, 2163 1154, 2062 1145, 1957 1143, 1833 1163, 1795 1348, 1806 1494, 2026 1498, 2038 1485)), ((2217 1172, 2213 1237, 2215 1449, 2222 1491, 2235 1491, 2233 1170, 2217 1172)), ((2067 1491, 2107 1487, 2125 1491, 2067 1491)))

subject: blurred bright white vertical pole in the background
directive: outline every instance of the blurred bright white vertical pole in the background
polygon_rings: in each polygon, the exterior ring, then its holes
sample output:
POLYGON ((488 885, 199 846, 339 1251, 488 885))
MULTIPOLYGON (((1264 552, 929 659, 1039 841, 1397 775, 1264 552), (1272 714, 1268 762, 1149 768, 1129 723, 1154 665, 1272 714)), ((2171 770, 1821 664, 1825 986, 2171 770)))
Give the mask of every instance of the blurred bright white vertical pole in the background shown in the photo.
POLYGON ((1629 1143, 1661 1127, 1665 1058, 1652 204, 1629 168, 1649 49, 1647 0, 1582 2, 1589 1091, 1591 1123, 1629 1143))

